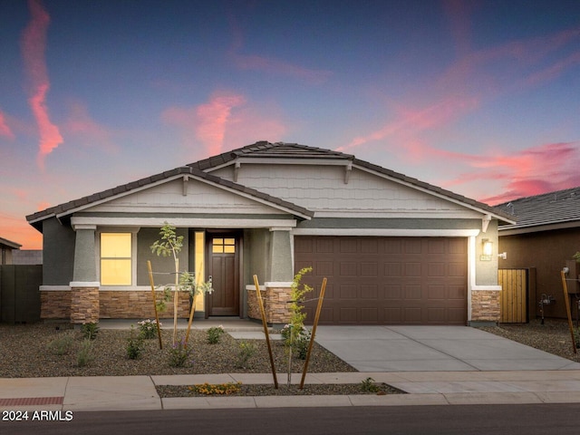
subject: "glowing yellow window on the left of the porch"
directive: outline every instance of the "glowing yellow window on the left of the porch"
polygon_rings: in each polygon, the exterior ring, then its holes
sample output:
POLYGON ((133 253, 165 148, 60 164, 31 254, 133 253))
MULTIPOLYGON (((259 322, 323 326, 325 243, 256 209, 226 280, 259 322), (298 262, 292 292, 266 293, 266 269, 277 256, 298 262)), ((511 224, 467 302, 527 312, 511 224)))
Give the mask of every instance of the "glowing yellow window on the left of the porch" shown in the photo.
POLYGON ((101 285, 131 285, 131 233, 101 234, 101 285))

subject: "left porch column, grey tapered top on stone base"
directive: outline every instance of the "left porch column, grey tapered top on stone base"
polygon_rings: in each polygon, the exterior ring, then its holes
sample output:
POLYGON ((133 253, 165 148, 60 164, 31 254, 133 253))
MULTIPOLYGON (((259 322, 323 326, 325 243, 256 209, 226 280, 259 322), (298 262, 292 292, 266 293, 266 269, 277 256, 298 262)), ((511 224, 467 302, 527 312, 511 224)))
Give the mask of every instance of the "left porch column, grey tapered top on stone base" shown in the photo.
POLYGON ((95 257, 94 225, 74 227, 73 282, 71 283, 71 322, 99 322, 99 280, 95 257))

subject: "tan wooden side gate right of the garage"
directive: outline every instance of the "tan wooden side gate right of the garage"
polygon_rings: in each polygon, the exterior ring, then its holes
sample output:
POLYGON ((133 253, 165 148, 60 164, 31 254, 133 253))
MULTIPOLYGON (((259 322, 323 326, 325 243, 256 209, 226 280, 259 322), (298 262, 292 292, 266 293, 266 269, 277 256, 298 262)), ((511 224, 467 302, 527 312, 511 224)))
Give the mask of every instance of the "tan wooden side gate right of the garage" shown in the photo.
POLYGON ((499 269, 498 285, 500 324, 527 324, 529 274, 527 269, 499 269))

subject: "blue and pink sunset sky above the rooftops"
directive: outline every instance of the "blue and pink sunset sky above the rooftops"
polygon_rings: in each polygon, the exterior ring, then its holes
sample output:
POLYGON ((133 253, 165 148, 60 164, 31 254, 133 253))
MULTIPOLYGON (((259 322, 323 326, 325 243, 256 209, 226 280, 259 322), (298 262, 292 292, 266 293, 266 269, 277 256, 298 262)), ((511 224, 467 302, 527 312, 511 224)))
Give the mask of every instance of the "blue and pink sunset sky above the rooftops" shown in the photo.
POLYGON ((0 237, 256 140, 490 205, 580 185, 578 0, 0 0, 0 237))

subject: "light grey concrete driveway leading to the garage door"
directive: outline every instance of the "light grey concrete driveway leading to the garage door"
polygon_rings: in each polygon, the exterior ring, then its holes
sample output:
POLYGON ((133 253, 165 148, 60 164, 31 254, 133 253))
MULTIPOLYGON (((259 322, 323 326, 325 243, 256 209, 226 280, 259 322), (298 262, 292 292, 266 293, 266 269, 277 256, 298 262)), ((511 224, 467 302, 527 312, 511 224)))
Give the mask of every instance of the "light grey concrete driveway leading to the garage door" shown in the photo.
POLYGON ((359 372, 580 370, 580 363, 469 326, 318 326, 359 372))

